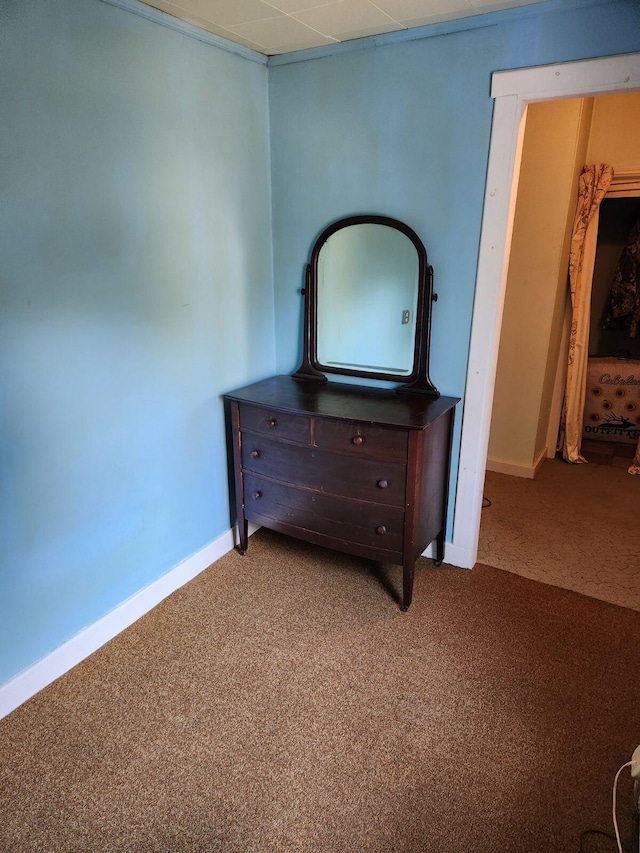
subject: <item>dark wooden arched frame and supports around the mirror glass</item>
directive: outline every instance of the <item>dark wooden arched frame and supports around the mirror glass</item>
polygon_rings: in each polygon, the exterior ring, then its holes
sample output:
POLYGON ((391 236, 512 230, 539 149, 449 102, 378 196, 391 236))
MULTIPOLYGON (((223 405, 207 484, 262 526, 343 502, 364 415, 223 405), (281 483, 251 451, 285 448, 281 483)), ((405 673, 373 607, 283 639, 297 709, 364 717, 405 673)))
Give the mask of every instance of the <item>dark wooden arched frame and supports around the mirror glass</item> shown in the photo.
POLYGON ((433 267, 427 261, 427 251, 416 232, 389 216, 363 214, 347 216, 329 225, 320 234, 313 245, 311 259, 305 272, 304 295, 304 336, 302 364, 293 375, 294 379, 323 383, 327 382, 325 373, 337 373, 343 376, 358 376, 363 379, 380 379, 401 382, 398 393, 424 394, 439 397, 440 393, 429 379, 429 346, 431 343, 431 305, 438 298, 433 292, 433 267), (352 225, 386 225, 395 228, 408 237, 418 254, 418 300, 416 308, 416 331, 413 345, 413 368, 411 373, 398 376, 397 373, 384 373, 372 370, 357 370, 344 367, 330 367, 318 361, 318 263, 320 252, 332 234, 352 225))

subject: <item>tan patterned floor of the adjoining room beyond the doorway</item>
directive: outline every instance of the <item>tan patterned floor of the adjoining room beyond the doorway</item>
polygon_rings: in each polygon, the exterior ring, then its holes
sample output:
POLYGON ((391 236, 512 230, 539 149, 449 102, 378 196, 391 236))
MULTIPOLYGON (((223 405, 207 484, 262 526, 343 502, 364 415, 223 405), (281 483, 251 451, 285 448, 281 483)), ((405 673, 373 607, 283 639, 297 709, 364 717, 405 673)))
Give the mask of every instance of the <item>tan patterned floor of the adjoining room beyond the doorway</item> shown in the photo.
POLYGON ((535 480, 488 471, 478 560, 640 610, 640 477, 617 461, 547 459, 535 480))

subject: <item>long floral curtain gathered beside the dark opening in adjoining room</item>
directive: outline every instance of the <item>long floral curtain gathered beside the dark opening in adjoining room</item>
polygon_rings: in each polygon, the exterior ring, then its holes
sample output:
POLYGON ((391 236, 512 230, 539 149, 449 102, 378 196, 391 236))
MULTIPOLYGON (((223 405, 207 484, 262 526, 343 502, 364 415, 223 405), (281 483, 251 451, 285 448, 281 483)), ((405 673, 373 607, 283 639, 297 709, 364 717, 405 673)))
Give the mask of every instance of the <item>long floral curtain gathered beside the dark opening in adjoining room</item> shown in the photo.
POLYGON ((571 332, 564 406, 559 446, 567 462, 586 462, 580 454, 582 418, 589 355, 591 285, 598 237, 600 202, 613 179, 613 169, 604 163, 585 166, 580 175, 578 205, 569 252, 571 332))

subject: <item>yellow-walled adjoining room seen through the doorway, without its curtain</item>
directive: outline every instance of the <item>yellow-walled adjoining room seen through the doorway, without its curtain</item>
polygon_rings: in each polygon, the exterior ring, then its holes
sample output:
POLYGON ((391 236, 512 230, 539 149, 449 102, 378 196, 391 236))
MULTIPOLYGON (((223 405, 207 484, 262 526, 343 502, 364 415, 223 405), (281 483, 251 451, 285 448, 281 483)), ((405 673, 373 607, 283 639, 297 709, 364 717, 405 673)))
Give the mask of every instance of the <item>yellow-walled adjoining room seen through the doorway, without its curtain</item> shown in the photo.
POLYGON ((478 553, 488 565, 636 610, 640 507, 627 472, 640 438, 640 340, 628 324, 609 318, 609 306, 640 218, 639 163, 637 92, 529 107, 478 553), (558 443, 571 325, 569 256, 585 163, 609 164, 614 174, 598 209, 585 306, 586 466, 563 462, 558 443))

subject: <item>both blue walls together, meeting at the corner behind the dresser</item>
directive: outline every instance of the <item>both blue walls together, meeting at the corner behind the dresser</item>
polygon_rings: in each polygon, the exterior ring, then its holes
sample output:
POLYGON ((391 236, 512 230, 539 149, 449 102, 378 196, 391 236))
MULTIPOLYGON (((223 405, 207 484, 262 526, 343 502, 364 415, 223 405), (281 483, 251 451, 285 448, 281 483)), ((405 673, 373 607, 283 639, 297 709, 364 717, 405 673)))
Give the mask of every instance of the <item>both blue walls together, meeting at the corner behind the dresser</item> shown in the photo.
POLYGON ((267 72, 100 0, 0 2, 0 684, 228 530, 220 394, 297 366, 332 220, 423 237, 463 393, 491 73, 640 50, 636 0, 483 22, 267 72))

